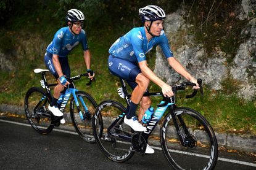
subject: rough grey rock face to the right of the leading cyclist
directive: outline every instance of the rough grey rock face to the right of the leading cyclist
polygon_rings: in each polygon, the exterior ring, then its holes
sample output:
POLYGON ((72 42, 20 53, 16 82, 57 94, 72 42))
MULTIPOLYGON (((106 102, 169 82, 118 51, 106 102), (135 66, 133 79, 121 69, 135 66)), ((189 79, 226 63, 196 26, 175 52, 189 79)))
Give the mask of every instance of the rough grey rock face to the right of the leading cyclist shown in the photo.
MULTIPOLYGON (((244 1, 242 6, 247 7, 244 1)), ((236 95, 247 100, 254 100, 256 96, 256 18, 250 19, 249 24, 244 26, 241 36, 249 36, 249 38, 237 48, 232 64, 227 64, 225 57, 227 54, 219 47, 215 47, 211 56, 205 58, 203 45, 193 42, 194 36, 189 34, 191 25, 186 23, 181 13, 175 12, 167 15, 165 19, 165 34, 167 34, 175 58, 194 77, 203 79, 210 88, 220 90, 223 88, 221 82, 227 78, 233 79, 238 82, 236 95)), ((167 80, 168 84, 175 84, 183 79, 168 66, 159 47, 157 47, 156 55, 154 72, 159 77, 167 80)))

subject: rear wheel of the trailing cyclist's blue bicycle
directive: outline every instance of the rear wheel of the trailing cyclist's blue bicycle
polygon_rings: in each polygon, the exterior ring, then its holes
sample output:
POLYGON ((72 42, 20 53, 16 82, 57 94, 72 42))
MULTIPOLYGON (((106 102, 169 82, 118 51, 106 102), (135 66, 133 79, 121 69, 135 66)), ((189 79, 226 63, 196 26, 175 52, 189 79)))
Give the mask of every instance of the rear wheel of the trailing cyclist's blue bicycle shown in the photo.
POLYGON ((50 97, 41 88, 30 88, 25 96, 25 114, 30 125, 40 134, 48 134, 54 128, 50 117, 42 115, 46 113, 50 97))

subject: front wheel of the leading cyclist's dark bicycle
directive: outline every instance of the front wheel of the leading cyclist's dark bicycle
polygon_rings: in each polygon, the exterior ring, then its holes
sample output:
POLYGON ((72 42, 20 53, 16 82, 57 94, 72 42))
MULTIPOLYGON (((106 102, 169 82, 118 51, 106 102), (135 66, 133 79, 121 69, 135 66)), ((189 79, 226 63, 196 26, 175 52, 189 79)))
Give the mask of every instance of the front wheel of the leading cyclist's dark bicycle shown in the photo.
POLYGON ((160 141, 165 157, 175 169, 213 169, 218 159, 218 144, 212 127, 195 110, 187 107, 175 109, 180 133, 185 137, 182 145, 169 113, 160 129, 160 141), (187 129, 181 125, 185 124, 187 129))

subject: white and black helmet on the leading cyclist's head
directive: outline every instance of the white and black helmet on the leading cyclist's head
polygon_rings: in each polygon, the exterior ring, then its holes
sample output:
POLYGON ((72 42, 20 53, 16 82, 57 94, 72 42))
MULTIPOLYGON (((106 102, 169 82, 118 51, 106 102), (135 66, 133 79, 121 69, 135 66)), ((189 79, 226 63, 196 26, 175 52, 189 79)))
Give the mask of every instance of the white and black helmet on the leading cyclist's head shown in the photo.
POLYGON ((142 22, 163 20, 166 17, 163 9, 158 6, 146 6, 139 9, 139 16, 142 22))

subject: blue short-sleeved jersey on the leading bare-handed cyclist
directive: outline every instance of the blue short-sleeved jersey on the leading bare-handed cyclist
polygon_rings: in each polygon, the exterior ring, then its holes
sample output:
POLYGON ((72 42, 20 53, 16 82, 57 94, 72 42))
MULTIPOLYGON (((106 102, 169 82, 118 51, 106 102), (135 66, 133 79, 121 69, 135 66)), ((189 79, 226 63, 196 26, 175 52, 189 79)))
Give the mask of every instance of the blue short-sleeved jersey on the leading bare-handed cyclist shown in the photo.
POLYGON ((165 58, 173 56, 165 32, 162 30, 160 36, 153 37, 151 41, 147 42, 144 26, 133 28, 117 39, 109 48, 109 53, 117 58, 139 63, 146 60, 145 54, 152 50, 154 45, 160 45, 165 58))

